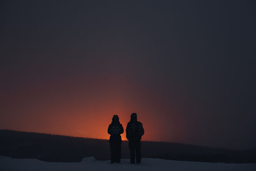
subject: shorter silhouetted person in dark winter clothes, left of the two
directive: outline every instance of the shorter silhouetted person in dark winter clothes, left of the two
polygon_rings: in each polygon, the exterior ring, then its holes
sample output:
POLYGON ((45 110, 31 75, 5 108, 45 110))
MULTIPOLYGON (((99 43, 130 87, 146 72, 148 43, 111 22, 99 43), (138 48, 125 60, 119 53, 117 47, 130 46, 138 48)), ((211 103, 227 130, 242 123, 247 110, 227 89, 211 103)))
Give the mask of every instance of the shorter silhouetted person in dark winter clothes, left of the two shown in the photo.
POLYGON ((108 126, 107 133, 110 134, 110 151, 111 163, 119 163, 121 160, 121 135, 123 133, 123 126, 119 122, 118 115, 114 115, 111 124, 108 126))

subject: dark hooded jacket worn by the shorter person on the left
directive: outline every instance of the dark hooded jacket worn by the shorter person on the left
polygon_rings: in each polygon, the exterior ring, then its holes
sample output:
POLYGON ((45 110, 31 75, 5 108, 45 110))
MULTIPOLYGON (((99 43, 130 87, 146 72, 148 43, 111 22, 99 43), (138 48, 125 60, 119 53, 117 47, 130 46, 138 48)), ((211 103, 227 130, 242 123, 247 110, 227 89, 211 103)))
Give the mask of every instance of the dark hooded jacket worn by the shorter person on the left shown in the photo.
POLYGON ((118 115, 114 115, 111 124, 108 126, 107 133, 111 136, 119 135, 123 133, 123 126, 119 122, 118 115))

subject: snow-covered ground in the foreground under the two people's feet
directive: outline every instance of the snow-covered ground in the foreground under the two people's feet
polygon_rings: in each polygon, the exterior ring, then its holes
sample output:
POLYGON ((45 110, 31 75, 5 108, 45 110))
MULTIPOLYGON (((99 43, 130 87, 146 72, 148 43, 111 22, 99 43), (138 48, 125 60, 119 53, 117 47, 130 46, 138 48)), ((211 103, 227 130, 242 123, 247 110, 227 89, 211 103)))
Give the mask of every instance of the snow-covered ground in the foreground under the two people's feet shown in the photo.
POLYGON ((13 159, 0 156, 0 170, 256 170, 256 164, 223 164, 189 161, 171 161, 154 158, 142 158, 142 164, 130 164, 123 159, 120 164, 110 164, 110 161, 97 161, 94 157, 84 158, 82 162, 62 163, 44 162, 37 159, 13 159))

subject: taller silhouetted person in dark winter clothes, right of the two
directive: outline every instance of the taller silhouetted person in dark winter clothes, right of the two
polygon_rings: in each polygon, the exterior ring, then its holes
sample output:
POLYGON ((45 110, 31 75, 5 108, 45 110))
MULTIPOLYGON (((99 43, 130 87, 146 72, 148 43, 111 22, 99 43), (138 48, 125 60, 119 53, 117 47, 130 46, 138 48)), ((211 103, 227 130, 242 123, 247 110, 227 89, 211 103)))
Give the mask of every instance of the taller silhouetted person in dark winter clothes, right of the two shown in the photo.
POLYGON ((139 164, 141 162, 141 137, 144 129, 141 122, 137 121, 137 114, 131 114, 131 121, 126 127, 126 138, 129 140, 130 162, 139 164))

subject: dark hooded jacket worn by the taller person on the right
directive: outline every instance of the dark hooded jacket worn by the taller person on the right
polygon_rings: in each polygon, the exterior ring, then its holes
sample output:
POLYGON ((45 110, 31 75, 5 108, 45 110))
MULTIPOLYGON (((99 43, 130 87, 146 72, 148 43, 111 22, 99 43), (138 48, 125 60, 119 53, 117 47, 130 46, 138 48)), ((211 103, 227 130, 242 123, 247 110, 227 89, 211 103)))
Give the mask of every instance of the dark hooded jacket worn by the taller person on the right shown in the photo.
POLYGON ((127 139, 141 139, 144 134, 144 129, 141 122, 137 121, 137 114, 131 114, 131 120, 128 122, 126 127, 126 138, 127 139))

